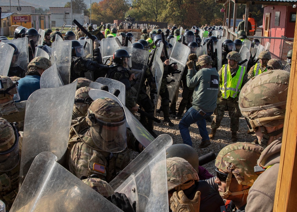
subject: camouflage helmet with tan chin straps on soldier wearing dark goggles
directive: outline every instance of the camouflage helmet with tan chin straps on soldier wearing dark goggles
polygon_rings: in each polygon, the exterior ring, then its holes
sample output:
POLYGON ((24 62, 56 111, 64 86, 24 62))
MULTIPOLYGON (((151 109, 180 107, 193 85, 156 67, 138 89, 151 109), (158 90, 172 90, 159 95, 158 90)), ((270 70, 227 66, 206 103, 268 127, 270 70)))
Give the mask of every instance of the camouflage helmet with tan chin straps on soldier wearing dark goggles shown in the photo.
POLYGON ((226 191, 219 192, 223 199, 227 199, 229 195, 235 196, 248 193, 249 189, 238 192, 229 191, 229 185, 233 179, 232 175, 234 175, 238 184, 252 186, 258 177, 254 172, 254 166, 257 164, 263 150, 263 147, 254 143, 238 142, 224 147, 219 152, 215 165, 217 167, 217 177, 219 180, 226 182, 226 191), (219 169, 228 174, 220 172, 219 169))

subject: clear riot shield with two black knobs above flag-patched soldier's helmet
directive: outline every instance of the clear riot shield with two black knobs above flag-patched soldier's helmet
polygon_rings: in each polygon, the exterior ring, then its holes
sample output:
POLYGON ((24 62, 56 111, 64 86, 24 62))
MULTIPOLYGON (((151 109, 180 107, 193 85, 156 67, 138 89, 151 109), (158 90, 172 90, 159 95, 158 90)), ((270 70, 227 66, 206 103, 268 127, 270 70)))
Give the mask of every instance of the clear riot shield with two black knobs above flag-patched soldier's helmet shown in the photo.
MULTIPOLYGON (((121 100, 121 102, 124 105, 126 104, 126 86, 124 85, 124 83, 121 83, 118 80, 113 80, 113 79, 105 78, 105 77, 99 77, 96 80, 96 83, 100 83, 102 85, 107 85, 110 93, 113 93, 113 91, 115 89, 118 89, 119 91, 121 91, 118 98, 121 100)), ((94 85, 94 86, 96 86, 96 85, 94 85)), ((91 87, 91 88, 101 89, 101 86, 100 86, 100 88, 98 88, 98 86, 97 87, 91 87)))

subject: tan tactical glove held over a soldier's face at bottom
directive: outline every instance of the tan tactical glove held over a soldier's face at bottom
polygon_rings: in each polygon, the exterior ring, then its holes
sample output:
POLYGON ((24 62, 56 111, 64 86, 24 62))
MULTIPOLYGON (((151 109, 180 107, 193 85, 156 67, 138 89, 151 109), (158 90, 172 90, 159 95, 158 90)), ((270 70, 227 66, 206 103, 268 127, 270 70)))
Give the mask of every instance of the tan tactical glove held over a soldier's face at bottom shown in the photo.
POLYGON ((196 192, 193 200, 189 200, 184 191, 174 192, 170 204, 172 212, 199 212, 200 192, 196 192))

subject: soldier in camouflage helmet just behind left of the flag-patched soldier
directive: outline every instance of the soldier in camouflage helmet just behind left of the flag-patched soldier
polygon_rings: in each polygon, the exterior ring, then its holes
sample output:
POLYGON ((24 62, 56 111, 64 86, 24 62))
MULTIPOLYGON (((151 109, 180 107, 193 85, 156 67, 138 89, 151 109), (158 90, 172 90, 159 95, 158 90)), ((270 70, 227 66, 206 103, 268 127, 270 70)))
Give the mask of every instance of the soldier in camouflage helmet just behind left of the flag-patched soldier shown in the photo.
POLYGON ((88 109, 93 102, 89 96, 89 90, 91 90, 89 87, 82 87, 76 90, 72 119, 86 116, 88 109))

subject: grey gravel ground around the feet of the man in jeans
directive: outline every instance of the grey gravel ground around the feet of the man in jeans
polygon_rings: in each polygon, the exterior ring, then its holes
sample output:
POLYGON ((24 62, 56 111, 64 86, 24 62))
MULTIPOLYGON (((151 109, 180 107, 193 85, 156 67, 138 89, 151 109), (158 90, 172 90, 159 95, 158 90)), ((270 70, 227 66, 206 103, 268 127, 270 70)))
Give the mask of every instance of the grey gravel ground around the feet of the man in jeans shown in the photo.
MULTIPOLYGON (((176 109, 178 108, 179 102, 182 99, 181 93, 182 93, 182 89, 179 90, 178 102, 177 102, 176 109)), ((158 108, 160 107, 160 102, 161 101, 159 100, 158 108)), ((161 112, 160 114, 157 113, 156 117, 159 118, 160 120, 163 120, 163 112, 161 112)), ((213 118, 213 116, 211 116, 211 118, 213 118)), ((178 129, 178 123, 180 120, 176 120, 175 118, 170 118, 170 119, 174 124, 173 127, 164 125, 162 123, 162 121, 159 124, 155 122, 154 132, 157 135, 161 135, 161 134, 170 135, 173 139, 173 144, 183 143, 181 134, 178 129)), ((206 122, 206 124, 207 124, 208 133, 210 133, 211 132, 211 126, 210 126, 211 123, 206 122)), ((256 139, 255 134, 249 135, 249 134, 247 134, 247 130, 248 130, 247 123, 242 116, 241 118, 239 118, 239 131, 237 133, 238 142, 253 142, 256 139)), ((198 129, 198 126, 196 123, 192 124, 189 127, 189 131, 190 131, 190 135, 192 138, 193 148, 198 152, 199 156, 203 156, 211 151, 213 151, 217 155, 222 148, 224 148, 226 145, 233 143, 233 142, 231 142, 230 118, 228 115, 228 111, 225 112, 224 118, 222 119, 222 122, 221 122, 221 126, 217 129, 215 139, 211 140, 211 145, 209 145, 208 147, 203 148, 203 149, 198 148, 198 146, 201 142, 201 136, 199 134, 199 129, 198 129)), ((131 159, 134 159, 137 155, 138 155, 138 153, 136 153, 134 151, 131 151, 131 153, 130 153, 131 159)), ((209 163, 203 165, 203 167, 205 167, 208 170, 208 172, 211 173, 212 175, 215 174, 214 162, 215 161, 212 161, 212 162, 209 162, 209 163)))

